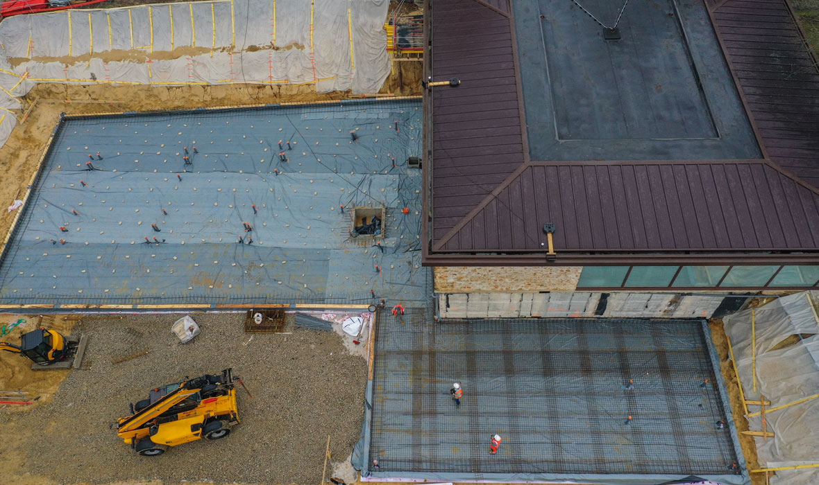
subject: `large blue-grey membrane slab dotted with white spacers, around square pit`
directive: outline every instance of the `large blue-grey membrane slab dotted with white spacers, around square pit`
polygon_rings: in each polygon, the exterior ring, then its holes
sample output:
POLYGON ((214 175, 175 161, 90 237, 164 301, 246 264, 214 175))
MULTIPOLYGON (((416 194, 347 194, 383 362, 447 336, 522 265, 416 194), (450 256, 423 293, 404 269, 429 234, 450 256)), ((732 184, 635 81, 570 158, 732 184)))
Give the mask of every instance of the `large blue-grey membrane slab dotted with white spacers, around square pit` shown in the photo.
POLYGON ((0 303, 421 301, 420 147, 416 100, 64 119, 0 303))

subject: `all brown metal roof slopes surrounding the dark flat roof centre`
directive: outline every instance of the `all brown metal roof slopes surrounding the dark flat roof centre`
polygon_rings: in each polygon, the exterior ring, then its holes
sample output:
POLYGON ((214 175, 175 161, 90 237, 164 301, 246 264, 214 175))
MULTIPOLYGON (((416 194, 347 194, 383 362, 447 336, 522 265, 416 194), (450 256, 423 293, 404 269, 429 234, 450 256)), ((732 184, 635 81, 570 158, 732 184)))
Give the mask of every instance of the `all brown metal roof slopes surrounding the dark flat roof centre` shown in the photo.
POLYGON ((495 3, 428 11, 428 72, 462 83, 425 98, 425 263, 545 263, 545 222, 557 264, 819 260, 819 73, 785 0, 713 12, 766 159, 600 162, 528 159, 514 16, 495 3))

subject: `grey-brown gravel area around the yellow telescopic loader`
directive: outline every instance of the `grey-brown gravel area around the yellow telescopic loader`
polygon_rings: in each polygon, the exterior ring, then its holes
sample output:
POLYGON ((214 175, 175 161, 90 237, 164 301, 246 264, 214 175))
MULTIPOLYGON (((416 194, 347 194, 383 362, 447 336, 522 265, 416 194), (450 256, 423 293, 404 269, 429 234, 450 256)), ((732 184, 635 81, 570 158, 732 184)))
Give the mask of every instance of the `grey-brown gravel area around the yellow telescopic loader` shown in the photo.
POLYGON ((179 317, 86 317, 75 326, 73 333, 89 335, 83 369, 70 373, 53 402, 13 418, 27 431, 15 438, 29 473, 57 483, 319 483, 328 434, 334 459, 350 455, 364 415, 367 364, 348 353, 342 337, 296 330, 251 339, 243 314, 195 314, 201 334, 182 345, 170 333, 179 317), (145 350, 150 353, 112 363, 145 350), (253 394, 237 385, 242 423, 229 437, 143 457, 109 429, 150 388, 227 367, 253 394))

